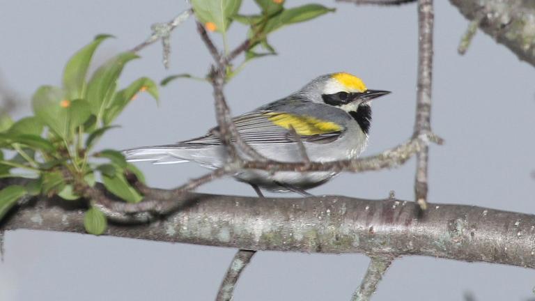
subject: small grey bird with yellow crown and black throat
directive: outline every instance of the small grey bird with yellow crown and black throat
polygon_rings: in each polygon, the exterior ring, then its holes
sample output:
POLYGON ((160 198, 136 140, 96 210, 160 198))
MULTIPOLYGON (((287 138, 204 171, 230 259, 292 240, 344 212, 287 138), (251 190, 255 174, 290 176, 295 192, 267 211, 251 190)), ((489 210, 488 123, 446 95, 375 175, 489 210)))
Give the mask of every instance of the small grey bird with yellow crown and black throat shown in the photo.
MULTIPOLYGON (((358 157, 368 144, 371 100, 389 91, 366 88, 348 72, 321 75, 285 98, 267 103, 233 118, 236 130, 251 148, 268 160, 333 162, 358 157), (304 147, 304 152, 303 152, 304 147)), ((208 169, 223 167, 229 154, 217 128, 175 144, 144 146, 123 151, 129 162, 154 164, 196 162, 208 169)), ((240 154, 245 156, 247 154, 240 154)), ((272 192, 307 190, 336 176, 335 171, 264 171, 247 169, 233 176, 249 183, 259 196, 261 188, 272 192)))

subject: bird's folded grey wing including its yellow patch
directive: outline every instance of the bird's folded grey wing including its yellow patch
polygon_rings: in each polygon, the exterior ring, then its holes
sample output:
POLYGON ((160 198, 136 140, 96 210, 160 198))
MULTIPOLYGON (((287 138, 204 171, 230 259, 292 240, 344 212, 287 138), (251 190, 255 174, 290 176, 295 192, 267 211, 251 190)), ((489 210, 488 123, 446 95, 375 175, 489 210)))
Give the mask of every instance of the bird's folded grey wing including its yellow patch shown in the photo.
MULTIPOLYGON (((332 121, 277 111, 255 111, 233 118, 238 132, 248 144, 295 143, 295 130, 303 142, 328 143, 340 137, 345 128, 332 121)), ((213 134, 183 141, 187 144, 220 144, 213 134)))

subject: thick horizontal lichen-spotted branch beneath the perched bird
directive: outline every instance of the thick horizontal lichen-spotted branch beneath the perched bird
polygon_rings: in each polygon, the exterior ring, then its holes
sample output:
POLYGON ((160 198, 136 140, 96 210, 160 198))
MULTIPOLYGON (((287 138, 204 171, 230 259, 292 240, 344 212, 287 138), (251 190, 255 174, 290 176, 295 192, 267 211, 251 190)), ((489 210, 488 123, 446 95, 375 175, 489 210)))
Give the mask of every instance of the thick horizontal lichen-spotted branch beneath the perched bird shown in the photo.
MULTIPOLYGON (((419 216, 414 202, 345 196, 185 194, 171 201, 185 205, 152 223, 110 223, 104 234, 249 250, 419 255, 535 268, 535 215, 430 204, 419 216)), ((0 230, 85 233, 83 219, 83 210, 45 200, 13 210, 0 230)))

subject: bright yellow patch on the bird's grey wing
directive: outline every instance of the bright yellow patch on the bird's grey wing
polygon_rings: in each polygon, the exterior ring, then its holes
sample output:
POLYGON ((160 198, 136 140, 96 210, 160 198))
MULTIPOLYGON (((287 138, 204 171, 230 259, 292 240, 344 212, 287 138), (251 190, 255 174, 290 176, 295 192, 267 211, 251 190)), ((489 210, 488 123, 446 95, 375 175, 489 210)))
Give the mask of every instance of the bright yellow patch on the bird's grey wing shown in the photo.
POLYGON ((282 128, 290 130, 293 128, 297 134, 311 136, 313 134, 326 134, 338 132, 342 127, 332 121, 323 121, 311 116, 298 116, 288 113, 266 113, 265 115, 272 123, 282 128))

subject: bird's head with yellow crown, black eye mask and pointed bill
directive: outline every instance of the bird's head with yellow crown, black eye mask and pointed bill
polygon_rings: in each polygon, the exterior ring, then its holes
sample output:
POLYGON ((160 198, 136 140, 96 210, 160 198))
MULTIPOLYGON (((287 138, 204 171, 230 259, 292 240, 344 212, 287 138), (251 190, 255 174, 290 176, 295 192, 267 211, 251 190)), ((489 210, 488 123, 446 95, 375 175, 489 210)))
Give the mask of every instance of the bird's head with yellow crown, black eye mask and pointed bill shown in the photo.
POLYGON ((339 107, 344 111, 357 111, 359 105, 370 105, 371 100, 389 91, 370 90, 362 79, 346 72, 331 73, 313 79, 298 94, 307 100, 339 107))

